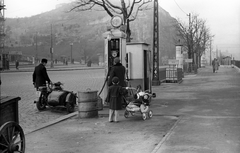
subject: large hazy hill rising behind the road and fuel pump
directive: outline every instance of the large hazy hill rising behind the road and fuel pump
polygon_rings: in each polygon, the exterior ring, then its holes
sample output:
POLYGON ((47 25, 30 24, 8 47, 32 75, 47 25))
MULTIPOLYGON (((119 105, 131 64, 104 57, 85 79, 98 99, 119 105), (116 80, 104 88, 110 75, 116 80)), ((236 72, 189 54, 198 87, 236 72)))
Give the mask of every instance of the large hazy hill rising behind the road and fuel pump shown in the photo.
MULTIPOLYGON (((71 4, 26 18, 6 19, 6 50, 22 51, 26 56, 50 57, 51 43, 54 59, 70 57, 71 46, 75 60, 85 57, 97 60, 104 52, 102 34, 110 26, 110 17, 104 11, 69 12, 71 4), (36 45, 37 44, 37 45, 36 45)), ((175 57, 176 20, 159 7, 160 64, 175 57)), ((153 10, 139 12, 131 22, 132 42, 146 42, 152 46, 153 10)))

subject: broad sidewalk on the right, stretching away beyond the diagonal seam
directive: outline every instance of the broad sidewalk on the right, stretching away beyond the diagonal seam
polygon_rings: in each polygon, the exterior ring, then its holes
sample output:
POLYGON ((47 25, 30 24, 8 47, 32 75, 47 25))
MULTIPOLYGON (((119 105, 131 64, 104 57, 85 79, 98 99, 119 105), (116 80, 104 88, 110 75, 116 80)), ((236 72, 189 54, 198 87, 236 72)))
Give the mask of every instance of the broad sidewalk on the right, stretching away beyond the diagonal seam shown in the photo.
POLYGON ((181 88, 161 90, 162 113, 181 118, 152 153, 240 152, 239 69, 221 66, 218 73, 210 72, 211 67, 200 69, 181 88))

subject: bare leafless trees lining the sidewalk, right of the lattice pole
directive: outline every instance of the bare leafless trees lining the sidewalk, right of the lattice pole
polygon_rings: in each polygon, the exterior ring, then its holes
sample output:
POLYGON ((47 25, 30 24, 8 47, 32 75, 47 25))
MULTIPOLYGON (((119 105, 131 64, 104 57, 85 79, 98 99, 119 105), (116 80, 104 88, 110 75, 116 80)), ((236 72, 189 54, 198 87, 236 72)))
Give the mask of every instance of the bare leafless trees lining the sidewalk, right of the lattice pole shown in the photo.
POLYGON ((188 25, 180 20, 178 23, 179 36, 183 39, 183 46, 188 51, 188 58, 193 59, 193 63, 200 67, 201 56, 210 47, 210 41, 213 37, 206 21, 194 14, 190 16, 188 25))

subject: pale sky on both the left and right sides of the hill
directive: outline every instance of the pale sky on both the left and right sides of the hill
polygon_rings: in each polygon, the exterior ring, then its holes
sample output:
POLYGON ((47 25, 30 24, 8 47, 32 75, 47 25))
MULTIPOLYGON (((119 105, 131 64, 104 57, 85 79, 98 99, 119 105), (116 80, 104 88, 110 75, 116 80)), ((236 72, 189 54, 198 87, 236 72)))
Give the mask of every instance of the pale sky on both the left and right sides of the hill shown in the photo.
MULTIPOLYGON (((70 1, 73 0, 5 0, 5 17, 29 17, 70 1)), ((227 52, 240 60, 240 0, 159 0, 159 5, 185 23, 187 14, 198 14, 214 35, 212 50, 227 52)))

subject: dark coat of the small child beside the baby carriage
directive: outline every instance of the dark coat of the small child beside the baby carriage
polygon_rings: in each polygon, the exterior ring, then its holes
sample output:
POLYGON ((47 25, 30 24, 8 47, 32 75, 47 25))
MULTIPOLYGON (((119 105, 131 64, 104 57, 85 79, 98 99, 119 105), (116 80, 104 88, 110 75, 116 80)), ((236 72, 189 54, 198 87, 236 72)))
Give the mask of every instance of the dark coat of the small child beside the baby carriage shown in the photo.
POLYGON ((122 87, 114 84, 109 87, 106 101, 109 102, 109 109, 121 110, 122 109, 122 87))

